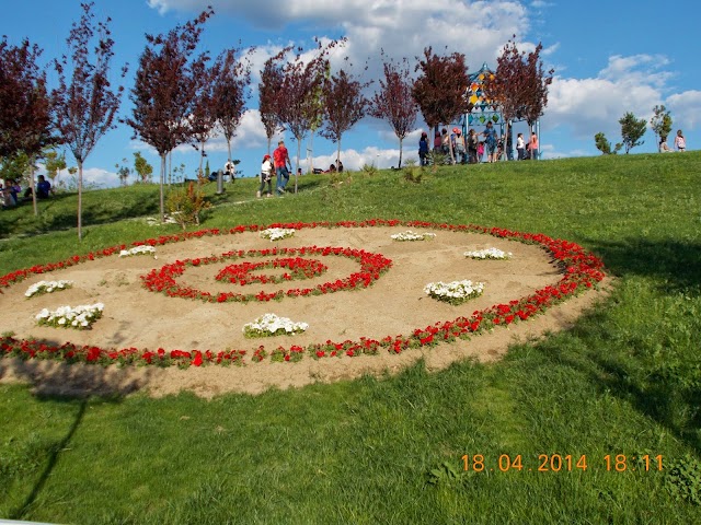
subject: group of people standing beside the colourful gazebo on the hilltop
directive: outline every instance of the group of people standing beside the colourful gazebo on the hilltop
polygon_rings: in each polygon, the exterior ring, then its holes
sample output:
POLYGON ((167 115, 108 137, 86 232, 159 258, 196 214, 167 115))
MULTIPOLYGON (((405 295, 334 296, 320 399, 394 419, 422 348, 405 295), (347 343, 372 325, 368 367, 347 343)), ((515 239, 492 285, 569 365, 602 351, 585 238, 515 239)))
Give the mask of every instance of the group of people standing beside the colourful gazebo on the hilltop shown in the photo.
MULTIPOLYGON (((507 132, 505 137, 499 137, 491 121, 486 124, 486 129, 482 133, 470 129, 468 136, 463 137, 460 128, 452 128, 452 133, 448 133, 448 129, 443 128, 440 132, 436 131, 434 138, 434 153, 450 155, 450 162, 455 164, 478 164, 482 162, 485 153, 486 162, 497 162, 504 154, 512 161, 514 160, 512 145, 512 133, 507 132)), ((519 161, 538 159, 538 148, 536 133, 530 136, 528 143, 524 140, 524 133, 518 133, 516 151, 519 161)), ((418 139, 418 159, 422 166, 428 164, 429 151, 428 133, 424 131, 418 139)))

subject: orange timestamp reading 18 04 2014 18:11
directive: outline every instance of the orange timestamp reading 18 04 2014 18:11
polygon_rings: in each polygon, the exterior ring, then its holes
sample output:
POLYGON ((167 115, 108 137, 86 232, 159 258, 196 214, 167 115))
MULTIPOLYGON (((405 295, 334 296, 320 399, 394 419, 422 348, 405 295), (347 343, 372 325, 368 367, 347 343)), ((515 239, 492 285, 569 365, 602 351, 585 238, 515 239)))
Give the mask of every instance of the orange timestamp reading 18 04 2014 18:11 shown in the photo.
POLYGON ((642 454, 629 456, 625 454, 607 454, 602 457, 589 458, 586 454, 538 454, 538 459, 528 457, 525 462, 521 454, 501 454, 487 458, 483 454, 466 454, 461 457, 462 469, 473 472, 507 472, 509 470, 533 472, 586 472, 587 469, 607 470, 610 472, 624 471, 662 471, 662 454, 642 454))

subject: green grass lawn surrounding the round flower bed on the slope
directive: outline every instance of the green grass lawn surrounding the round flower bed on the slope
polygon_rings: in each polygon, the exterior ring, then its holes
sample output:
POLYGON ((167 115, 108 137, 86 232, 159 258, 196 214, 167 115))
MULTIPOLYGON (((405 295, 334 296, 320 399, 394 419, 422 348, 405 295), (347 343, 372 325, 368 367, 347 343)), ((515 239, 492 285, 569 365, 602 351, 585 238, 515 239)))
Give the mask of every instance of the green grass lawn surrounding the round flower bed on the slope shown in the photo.
MULTIPOLYGON (((226 395, 58 398, 0 386, 0 517, 55 523, 694 523, 701 520, 701 153, 304 176, 227 186, 203 228, 369 218, 567 238, 618 277, 575 326, 494 364, 226 395), (463 471, 481 454, 486 471, 463 471), (524 469, 498 470, 499 455, 524 469), (586 471, 538 471, 540 455, 586 471), (663 455, 607 471, 605 456, 663 455), (676 468, 677 467, 677 468, 676 468), (494 471, 489 471, 494 468, 494 471), (528 469, 531 468, 530 471, 528 469), (433 472, 433 474, 432 474, 433 472)), ((0 273, 176 232, 158 188, 0 213, 0 273)), ((0 296, 2 300, 2 296, 0 296)), ((0 322, 11 330, 11 319, 0 322)), ((11 366, 0 360, 0 376, 11 366)), ((97 369, 95 381, 105 381, 97 369)))

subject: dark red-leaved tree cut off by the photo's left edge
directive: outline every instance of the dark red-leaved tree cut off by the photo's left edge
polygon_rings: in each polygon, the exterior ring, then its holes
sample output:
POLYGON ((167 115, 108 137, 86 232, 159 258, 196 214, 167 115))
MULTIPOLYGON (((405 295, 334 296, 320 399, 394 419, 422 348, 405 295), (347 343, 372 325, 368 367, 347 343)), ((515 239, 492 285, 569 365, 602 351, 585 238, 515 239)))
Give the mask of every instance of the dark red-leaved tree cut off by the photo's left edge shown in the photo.
POLYGON ((0 156, 26 156, 35 215, 34 160, 44 148, 58 142, 51 137, 46 73, 37 65, 41 55, 27 39, 19 47, 8 44, 5 37, 0 42, 0 156))

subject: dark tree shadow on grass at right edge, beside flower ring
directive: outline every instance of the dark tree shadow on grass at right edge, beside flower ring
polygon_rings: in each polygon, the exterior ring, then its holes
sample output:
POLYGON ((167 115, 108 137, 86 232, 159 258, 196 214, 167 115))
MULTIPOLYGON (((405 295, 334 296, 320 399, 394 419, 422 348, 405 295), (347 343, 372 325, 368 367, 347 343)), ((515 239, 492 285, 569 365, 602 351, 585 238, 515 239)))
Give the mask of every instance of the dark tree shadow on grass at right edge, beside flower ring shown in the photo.
POLYGON ((664 280, 666 291, 701 294, 701 243, 632 237, 586 242, 613 273, 652 277, 664 280))

